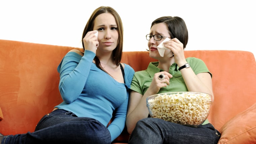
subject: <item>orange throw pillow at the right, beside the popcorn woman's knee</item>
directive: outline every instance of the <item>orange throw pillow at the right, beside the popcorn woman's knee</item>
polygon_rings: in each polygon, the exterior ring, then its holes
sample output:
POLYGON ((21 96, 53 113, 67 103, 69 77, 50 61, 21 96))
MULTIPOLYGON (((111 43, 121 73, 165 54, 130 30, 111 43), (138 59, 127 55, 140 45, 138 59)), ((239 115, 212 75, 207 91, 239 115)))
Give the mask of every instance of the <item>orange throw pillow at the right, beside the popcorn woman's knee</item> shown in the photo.
POLYGON ((256 103, 238 113, 220 129, 218 144, 256 143, 256 103))

